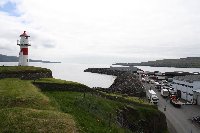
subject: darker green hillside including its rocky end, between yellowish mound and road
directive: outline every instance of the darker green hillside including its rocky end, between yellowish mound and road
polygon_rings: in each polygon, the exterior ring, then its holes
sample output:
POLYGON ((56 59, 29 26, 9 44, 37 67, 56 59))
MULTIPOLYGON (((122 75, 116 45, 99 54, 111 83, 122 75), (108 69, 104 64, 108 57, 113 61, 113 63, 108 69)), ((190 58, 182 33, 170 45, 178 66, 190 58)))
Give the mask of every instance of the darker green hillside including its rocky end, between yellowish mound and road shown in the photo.
MULTIPOLYGON (((146 99, 124 97, 120 94, 94 90, 84 92, 82 90, 86 89, 86 86, 80 84, 77 86, 78 83, 71 81, 40 79, 35 83, 45 83, 45 86, 40 86, 44 87, 41 88, 42 92, 52 99, 53 103, 56 103, 60 111, 71 114, 75 118, 80 132, 128 133, 151 130, 164 132, 167 130, 164 114, 158 111, 155 106, 149 104, 146 99), (56 82, 57 84, 55 84, 56 82), (50 83, 53 87, 50 87, 50 89, 46 86, 46 83, 50 83), (76 91, 66 87, 58 88, 57 85, 60 84, 73 84, 76 86, 73 88, 76 91), (124 114, 124 123, 120 123, 119 112, 124 113, 127 108, 128 113, 124 114), (158 124, 154 126, 154 129, 152 124, 155 122, 158 124), (148 126, 143 126, 143 124, 148 126), (134 126, 134 128, 131 128, 131 126, 134 126)), ((71 85, 68 87, 71 87, 71 85)))

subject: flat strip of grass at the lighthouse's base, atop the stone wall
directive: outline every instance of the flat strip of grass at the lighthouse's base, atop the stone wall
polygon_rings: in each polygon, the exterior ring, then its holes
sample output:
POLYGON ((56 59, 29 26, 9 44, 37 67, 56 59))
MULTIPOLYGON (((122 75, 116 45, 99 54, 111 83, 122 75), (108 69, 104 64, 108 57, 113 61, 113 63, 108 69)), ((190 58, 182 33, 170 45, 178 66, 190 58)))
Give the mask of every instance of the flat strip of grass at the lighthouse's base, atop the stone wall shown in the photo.
POLYGON ((50 69, 34 66, 0 66, 0 73, 21 73, 21 72, 51 72, 50 69))

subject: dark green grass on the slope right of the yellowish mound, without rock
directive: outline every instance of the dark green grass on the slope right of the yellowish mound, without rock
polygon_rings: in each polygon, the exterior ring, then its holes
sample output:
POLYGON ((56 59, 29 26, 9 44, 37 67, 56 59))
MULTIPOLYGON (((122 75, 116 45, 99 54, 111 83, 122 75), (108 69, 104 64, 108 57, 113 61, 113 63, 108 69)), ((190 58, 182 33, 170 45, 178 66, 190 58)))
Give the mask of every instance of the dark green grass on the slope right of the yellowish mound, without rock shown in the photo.
POLYGON ((79 126, 80 132, 85 133, 130 132, 125 128, 121 128, 116 123, 116 111, 123 109, 124 107, 126 108, 126 106, 129 106, 135 110, 134 113, 129 114, 129 119, 132 122, 137 123, 141 119, 149 121, 153 117, 160 115, 160 112, 152 105, 143 106, 144 104, 138 103, 127 104, 124 102, 105 99, 94 94, 92 95, 89 92, 86 93, 85 97, 81 92, 70 91, 46 91, 44 94, 46 94, 54 102, 57 102, 61 111, 74 116, 79 126), (109 119, 110 114, 111 119, 109 119), (109 120, 112 123, 111 127, 109 126, 109 120))

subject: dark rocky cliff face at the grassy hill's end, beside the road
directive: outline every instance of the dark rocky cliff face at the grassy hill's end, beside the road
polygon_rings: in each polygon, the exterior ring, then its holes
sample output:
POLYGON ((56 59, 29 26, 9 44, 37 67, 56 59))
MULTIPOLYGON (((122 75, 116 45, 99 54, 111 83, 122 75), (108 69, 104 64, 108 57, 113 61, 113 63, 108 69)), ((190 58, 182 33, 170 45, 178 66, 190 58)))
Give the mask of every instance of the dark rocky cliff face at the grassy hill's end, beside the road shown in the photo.
POLYGON ((167 131, 165 114, 154 111, 154 109, 148 110, 148 112, 143 112, 143 116, 141 116, 138 109, 126 106, 117 111, 117 121, 122 127, 136 133, 162 133, 167 131))

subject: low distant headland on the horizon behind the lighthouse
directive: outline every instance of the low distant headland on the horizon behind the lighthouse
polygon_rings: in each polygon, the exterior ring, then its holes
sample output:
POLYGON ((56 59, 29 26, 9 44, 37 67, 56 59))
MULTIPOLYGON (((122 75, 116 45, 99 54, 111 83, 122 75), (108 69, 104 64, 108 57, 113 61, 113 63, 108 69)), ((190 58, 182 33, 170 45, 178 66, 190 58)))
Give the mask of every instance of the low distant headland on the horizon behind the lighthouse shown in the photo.
MULTIPOLYGON (((17 56, 7 56, 7 55, 0 54, 0 62, 18 62, 18 61, 19 61, 19 57, 17 57, 17 56)), ((61 63, 61 62, 32 60, 32 59, 29 59, 29 62, 61 63)))

